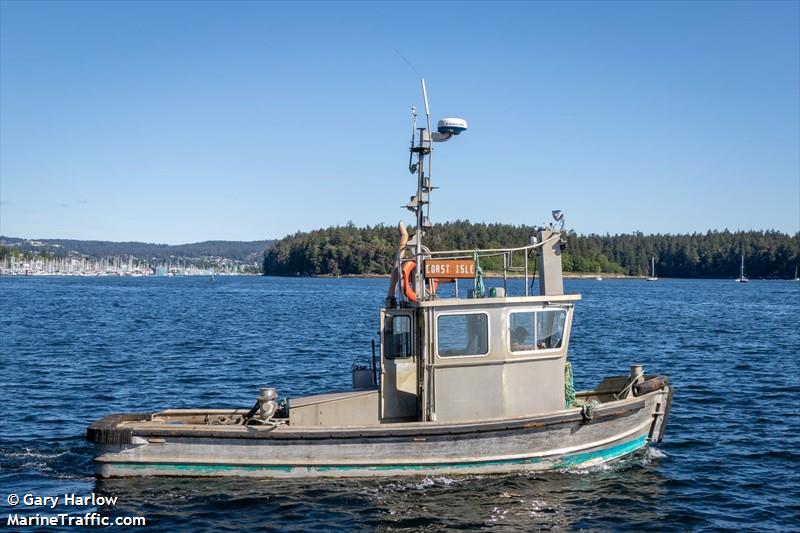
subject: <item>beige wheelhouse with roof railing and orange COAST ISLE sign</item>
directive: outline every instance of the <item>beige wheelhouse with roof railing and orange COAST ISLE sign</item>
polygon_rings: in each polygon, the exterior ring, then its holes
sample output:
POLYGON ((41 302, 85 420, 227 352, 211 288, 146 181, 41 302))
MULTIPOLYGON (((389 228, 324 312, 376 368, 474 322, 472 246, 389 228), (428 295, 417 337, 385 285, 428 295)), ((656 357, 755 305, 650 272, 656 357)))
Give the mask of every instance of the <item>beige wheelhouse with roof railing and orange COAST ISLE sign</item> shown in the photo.
MULTIPOLYGON (((393 305, 381 312, 382 423, 504 419, 565 408, 572 313, 580 296, 563 294, 560 234, 542 229, 533 241, 521 249, 445 252, 433 268, 425 264, 417 286, 428 290, 414 301, 407 290, 394 299, 396 287, 390 287, 393 305), (457 283, 459 277, 482 287, 475 267, 481 254, 503 255, 503 264, 513 265, 515 252, 526 258, 524 295, 507 295, 508 268, 502 288, 473 289, 468 298, 458 298, 458 289, 454 298, 434 292, 437 281, 457 283), (540 272, 536 296, 527 294, 531 253, 540 272)), ((411 272, 402 265, 397 270, 411 272)), ((400 279, 401 289, 408 283, 400 279)))

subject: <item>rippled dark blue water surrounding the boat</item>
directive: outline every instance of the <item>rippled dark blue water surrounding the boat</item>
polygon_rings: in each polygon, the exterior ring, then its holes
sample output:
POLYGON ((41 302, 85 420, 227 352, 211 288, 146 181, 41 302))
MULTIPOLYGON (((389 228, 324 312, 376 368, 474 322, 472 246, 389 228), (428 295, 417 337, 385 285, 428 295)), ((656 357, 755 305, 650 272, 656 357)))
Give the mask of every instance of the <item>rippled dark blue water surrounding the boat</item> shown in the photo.
MULTIPOLYGON (((3 526, 10 492, 94 491, 119 498, 99 511, 143 515, 147 531, 798 529, 800 283, 780 281, 567 281, 584 297, 570 355, 578 387, 638 362, 677 389, 663 445, 610 466, 369 481, 92 477, 83 435, 107 413, 249 407, 261 385, 288 396, 347 388, 386 284, 0 278, 3 526)), ((35 512, 59 511, 74 509, 35 512)))

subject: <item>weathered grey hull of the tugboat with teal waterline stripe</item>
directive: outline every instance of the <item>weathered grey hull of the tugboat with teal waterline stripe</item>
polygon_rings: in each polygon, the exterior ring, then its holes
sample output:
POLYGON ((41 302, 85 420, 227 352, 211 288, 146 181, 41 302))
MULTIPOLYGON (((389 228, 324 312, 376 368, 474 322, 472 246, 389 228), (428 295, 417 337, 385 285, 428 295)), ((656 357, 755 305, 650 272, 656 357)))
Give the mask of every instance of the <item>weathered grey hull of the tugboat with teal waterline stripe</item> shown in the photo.
POLYGON ((658 442, 671 395, 665 387, 594 410, 576 408, 476 424, 254 428, 127 421, 115 429, 102 428, 99 421, 89 440, 96 443, 99 477, 377 477, 558 470, 611 461, 658 442))

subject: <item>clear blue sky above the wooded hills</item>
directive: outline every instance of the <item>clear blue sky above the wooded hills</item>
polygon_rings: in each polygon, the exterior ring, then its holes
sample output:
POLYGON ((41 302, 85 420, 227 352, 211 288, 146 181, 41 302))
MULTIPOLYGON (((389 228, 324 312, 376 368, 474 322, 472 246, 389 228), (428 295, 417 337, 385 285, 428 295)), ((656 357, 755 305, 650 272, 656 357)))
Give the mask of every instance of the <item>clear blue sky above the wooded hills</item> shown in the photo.
POLYGON ((0 233, 280 238, 412 222, 800 230, 800 3, 0 4, 0 233))

